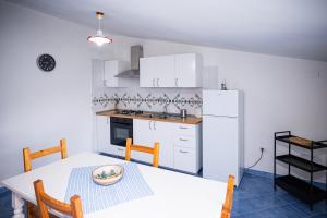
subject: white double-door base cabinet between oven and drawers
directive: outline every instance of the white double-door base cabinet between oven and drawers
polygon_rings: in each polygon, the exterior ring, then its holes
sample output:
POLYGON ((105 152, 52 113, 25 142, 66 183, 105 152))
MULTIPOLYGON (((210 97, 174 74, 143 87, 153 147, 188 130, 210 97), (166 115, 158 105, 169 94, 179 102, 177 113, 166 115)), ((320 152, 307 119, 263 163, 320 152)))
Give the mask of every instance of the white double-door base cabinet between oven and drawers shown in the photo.
MULTIPOLYGON (((137 120, 133 121, 133 144, 154 146, 159 142, 159 166, 173 168, 172 123, 137 120)), ((132 152, 132 158, 145 162, 153 162, 153 156, 132 152)))

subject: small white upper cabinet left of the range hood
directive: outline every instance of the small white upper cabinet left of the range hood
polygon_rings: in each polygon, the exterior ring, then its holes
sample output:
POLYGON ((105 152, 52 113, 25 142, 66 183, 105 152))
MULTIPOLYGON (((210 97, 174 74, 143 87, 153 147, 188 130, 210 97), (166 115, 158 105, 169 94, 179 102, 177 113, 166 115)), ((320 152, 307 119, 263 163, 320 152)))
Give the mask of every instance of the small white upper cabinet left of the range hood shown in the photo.
POLYGON ((105 61, 104 86, 105 87, 120 87, 120 80, 116 77, 117 74, 129 70, 130 64, 125 61, 105 61))

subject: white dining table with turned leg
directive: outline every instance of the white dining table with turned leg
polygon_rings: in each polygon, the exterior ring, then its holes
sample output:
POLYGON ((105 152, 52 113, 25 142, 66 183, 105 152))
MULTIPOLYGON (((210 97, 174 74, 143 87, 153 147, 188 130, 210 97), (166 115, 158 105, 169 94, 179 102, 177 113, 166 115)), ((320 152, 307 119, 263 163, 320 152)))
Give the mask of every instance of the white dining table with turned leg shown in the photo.
MULTIPOLYGON (((64 201, 69 178, 73 168, 122 162, 125 161, 94 153, 81 153, 9 178, 1 183, 12 191, 13 217, 23 218, 24 199, 36 204, 33 186, 35 180, 41 179, 45 191, 50 196, 64 201)), ((85 214, 84 217, 220 218, 227 183, 141 164, 137 164, 137 167, 152 189, 153 195, 85 214)), ((62 216, 56 211, 52 213, 59 217, 62 216)))

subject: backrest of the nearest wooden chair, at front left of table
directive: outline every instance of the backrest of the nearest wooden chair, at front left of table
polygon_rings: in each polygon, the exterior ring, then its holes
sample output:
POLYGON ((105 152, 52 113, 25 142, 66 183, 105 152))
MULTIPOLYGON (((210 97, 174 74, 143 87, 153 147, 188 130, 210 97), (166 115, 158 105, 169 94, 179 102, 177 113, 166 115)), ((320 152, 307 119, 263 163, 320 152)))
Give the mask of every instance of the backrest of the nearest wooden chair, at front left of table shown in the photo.
POLYGON ((45 193, 41 180, 34 182, 34 190, 40 218, 49 218, 48 207, 73 218, 83 218, 82 202, 78 195, 71 197, 71 204, 55 199, 45 193))

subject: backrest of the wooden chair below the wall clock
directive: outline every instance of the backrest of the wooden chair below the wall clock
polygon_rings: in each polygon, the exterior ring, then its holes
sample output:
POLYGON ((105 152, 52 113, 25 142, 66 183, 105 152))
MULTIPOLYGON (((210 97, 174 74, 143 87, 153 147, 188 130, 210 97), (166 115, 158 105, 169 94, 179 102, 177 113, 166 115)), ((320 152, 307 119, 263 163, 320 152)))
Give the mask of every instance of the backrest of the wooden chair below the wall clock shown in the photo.
POLYGON ((32 170, 32 160, 46 155, 51 155, 53 153, 61 153, 61 159, 66 158, 66 141, 64 138, 60 140, 60 145, 58 146, 49 147, 35 153, 31 153, 28 147, 23 148, 24 171, 27 172, 32 170))

